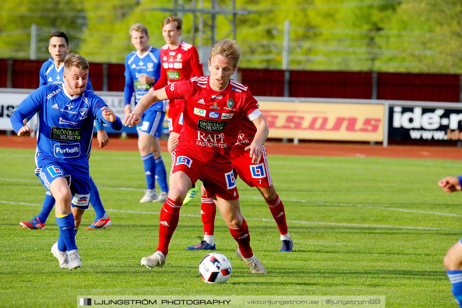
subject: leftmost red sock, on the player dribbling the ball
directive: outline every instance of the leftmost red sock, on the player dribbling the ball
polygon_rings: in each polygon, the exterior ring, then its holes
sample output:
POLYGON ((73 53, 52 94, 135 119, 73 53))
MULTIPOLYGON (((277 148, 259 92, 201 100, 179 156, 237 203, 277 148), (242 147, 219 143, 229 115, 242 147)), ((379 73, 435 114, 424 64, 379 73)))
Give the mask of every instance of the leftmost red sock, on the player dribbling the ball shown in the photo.
POLYGON ((164 255, 169 253, 170 239, 178 225, 182 205, 181 202, 175 202, 167 198, 160 210, 159 246, 157 250, 161 251, 164 255))

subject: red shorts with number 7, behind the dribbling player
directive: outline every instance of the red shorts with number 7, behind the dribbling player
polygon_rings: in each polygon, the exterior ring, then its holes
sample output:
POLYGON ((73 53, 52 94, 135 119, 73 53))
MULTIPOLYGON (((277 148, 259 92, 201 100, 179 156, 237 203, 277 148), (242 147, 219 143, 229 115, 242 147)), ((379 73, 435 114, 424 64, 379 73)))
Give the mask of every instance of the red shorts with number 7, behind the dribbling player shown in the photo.
MULTIPOLYGON (((263 155, 260 163, 252 163, 250 152, 244 151, 243 148, 231 148, 231 164, 237 175, 250 187, 270 187, 273 184, 271 174, 269 173, 268 158, 266 156, 265 145, 261 146, 263 155)), ((237 176, 235 173, 235 176, 237 176)))

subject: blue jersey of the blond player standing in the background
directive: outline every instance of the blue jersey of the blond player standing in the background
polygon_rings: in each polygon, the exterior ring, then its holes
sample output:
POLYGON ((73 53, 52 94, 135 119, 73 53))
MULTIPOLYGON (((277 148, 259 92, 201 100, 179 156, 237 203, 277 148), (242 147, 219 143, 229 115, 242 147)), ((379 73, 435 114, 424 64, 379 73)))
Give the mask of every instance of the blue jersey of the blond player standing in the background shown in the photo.
MULTIPOLYGON (((140 101, 153 84, 144 85, 138 80, 141 74, 147 74, 154 77, 155 81, 160 78, 160 49, 149 47, 143 55, 138 51, 132 51, 125 58, 125 104, 132 100, 133 90, 135 91, 135 105, 140 101)), ((166 103, 157 102, 150 108, 165 112, 166 103)))

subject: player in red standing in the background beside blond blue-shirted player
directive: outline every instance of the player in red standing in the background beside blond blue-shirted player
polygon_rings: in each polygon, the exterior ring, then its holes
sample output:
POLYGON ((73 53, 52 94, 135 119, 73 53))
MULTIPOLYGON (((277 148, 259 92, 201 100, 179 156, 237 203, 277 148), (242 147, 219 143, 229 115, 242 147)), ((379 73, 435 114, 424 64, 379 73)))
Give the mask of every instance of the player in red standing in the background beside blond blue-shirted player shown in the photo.
MULTIPOLYGON (((204 76, 202 63, 196 48, 180 39, 182 20, 173 15, 162 22, 162 35, 166 44, 160 49, 160 79, 154 84, 154 89, 175 84, 181 80, 189 80, 195 76, 204 76)), ((168 151, 171 153, 175 146, 171 138, 178 136, 183 124, 184 99, 169 101, 169 142, 168 151)))

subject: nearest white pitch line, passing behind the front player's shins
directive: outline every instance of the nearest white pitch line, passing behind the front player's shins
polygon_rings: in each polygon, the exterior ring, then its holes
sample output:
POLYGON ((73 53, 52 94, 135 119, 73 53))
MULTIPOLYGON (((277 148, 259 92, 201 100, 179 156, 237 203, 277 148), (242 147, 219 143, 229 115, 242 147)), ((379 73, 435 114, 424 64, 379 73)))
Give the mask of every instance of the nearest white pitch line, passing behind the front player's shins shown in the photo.
MULTIPOLYGON (((0 203, 6 204, 15 204, 15 205, 34 205, 42 206, 38 203, 26 203, 26 202, 12 202, 0 200, 0 203)), ((92 210, 92 209, 91 209, 92 210)), ((160 212, 152 211, 123 211, 123 210, 113 210, 107 209, 108 212, 118 212, 118 213, 132 213, 132 214, 154 214, 158 215, 160 212)), ((180 216, 185 217, 201 217, 201 215, 191 215, 191 214, 180 214, 180 216)), ((222 219, 223 217, 217 216, 216 218, 222 219)), ((274 219, 268 218, 246 218, 246 220, 260 220, 260 221, 274 221, 274 219)), ((429 228, 429 227, 406 227, 406 226, 390 226, 386 224, 360 224, 360 223, 323 223, 323 222, 314 222, 314 221, 301 221, 301 220, 287 220, 288 223, 304 223, 304 224, 322 224, 322 225, 331 225, 331 226, 347 226, 347 227, 366 227, 366 228, 388 228, 388 229, 415 229, 415 230, 434 230, 434 231, 455 231, 461 232, 459 229, 441 229, 441 228, 429 228)))

